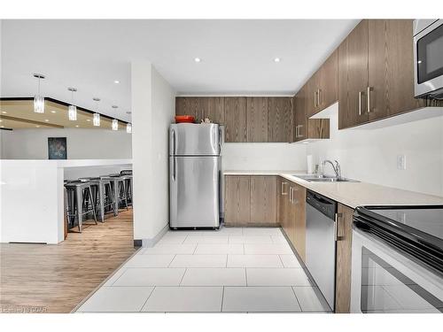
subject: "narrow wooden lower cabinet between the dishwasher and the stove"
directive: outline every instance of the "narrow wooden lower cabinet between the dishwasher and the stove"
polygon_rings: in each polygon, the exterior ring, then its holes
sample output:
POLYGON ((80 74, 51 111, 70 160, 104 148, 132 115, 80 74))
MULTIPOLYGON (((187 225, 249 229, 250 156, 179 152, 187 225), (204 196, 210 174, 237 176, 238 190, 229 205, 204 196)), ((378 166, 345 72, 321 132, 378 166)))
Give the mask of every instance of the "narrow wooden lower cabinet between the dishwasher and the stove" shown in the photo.
POLYGON ((338 204, 335 312, 349 313, 354 210, 338 204))

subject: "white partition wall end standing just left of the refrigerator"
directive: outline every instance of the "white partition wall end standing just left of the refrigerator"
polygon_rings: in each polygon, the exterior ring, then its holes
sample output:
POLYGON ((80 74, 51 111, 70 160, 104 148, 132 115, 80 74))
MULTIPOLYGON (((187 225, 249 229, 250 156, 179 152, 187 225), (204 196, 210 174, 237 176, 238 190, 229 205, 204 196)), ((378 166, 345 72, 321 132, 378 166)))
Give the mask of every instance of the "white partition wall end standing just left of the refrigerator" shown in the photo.
POLYGON ((151 245, 169 222, 167 132, 175 91, 144 60, 131 65, 131 89, 134 238, 151 245))

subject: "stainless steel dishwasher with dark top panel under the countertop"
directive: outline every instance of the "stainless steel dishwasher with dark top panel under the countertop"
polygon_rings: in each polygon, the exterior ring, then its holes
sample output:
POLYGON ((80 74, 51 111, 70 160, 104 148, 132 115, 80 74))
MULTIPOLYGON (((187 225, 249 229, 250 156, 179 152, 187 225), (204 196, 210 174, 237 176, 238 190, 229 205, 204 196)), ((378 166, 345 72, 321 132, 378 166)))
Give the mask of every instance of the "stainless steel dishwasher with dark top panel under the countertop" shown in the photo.
POLYGON ((334 310, 337 202, 307 190, 306 266, 334 310))

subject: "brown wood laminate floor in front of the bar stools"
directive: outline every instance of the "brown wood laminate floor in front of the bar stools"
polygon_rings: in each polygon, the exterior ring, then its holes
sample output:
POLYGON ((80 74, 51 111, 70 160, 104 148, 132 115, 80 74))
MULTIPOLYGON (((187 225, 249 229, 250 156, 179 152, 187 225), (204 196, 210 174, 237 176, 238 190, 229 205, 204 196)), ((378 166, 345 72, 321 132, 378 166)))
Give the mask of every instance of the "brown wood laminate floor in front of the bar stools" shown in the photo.
POLYGON ((133 239, 129 210, 62 243, 1 243, 0 313, 70 313, 136 251, 133 239))

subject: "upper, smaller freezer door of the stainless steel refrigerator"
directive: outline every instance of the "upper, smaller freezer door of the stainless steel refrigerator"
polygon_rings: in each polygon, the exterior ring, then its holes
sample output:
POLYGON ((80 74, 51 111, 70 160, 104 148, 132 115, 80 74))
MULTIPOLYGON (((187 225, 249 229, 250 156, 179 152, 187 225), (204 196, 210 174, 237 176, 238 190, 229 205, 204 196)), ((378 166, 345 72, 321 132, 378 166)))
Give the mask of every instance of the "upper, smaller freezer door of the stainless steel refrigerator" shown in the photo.
POLYGON ((218 156, 220 140, 217 124, 173 124, 169 127, 169 156, 218 156))

